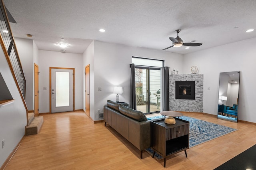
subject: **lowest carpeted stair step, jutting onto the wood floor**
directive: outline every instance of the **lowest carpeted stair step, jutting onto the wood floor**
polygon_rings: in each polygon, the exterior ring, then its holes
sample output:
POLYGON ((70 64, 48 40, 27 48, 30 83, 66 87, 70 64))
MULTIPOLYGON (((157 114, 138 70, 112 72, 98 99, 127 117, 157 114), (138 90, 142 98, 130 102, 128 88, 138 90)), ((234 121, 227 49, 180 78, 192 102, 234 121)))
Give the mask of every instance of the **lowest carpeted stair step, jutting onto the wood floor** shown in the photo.
POLYGON ((40 128, 42 127, 43 122, 44 122, 44 117, 42 116, 34 117, 30 125, 26 127, 26 135, 38 134, 40 128))

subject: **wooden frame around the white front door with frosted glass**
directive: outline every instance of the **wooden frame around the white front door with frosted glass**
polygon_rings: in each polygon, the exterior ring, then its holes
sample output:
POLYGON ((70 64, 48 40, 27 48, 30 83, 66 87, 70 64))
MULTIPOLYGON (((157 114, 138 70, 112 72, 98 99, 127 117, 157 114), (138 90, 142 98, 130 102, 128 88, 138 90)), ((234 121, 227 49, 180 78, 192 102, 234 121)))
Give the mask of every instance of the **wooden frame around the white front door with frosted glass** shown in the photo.
POLYGON ((73 112, 75 111, 75 69, 74 68, 64 68, 64 67, 49 67, 50 69, 50 86, 49 86, 49 98, 50 98, 50 111, 52 114, 52 69, 72 69, 73 70, 73 112))

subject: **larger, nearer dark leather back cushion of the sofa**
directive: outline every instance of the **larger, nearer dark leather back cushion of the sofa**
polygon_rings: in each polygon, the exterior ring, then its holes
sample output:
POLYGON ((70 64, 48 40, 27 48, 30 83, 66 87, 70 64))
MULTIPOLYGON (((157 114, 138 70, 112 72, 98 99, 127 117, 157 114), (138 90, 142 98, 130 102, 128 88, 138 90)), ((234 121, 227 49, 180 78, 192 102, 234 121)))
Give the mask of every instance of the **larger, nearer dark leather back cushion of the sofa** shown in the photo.
POLYGON ((147 117, 144 115, 144 113, 142 113, 141 111, 136 111, 136 110, 126 107, 124 105, 119 106, 119 111, 123 115, 126 115, 127 117, 130 117, 131 119, 134 119, 139 122, 148 120, 147 117))

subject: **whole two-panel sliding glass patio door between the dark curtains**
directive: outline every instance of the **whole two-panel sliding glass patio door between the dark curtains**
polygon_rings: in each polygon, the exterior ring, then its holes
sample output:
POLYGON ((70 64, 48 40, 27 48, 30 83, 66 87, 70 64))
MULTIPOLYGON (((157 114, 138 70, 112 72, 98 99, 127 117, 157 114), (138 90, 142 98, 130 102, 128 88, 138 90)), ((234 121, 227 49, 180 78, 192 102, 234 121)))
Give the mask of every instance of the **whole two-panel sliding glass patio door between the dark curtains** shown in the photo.
POLYGON ((161 71, 135 68, 136 108, 145 114, 160 112, 161 71))

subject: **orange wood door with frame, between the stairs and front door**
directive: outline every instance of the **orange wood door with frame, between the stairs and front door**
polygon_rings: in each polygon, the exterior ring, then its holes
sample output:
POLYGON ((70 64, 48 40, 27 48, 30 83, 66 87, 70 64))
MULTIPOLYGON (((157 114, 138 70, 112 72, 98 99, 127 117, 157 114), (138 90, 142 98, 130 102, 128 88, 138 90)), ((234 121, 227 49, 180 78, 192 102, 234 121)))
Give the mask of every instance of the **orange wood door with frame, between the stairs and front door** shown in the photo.
POLYGON ((35 116, 39 116, 39 82, 38 81, 39 81, 39 67, 36 63, 34 63, 34 114, 35 116), (36 72, 36 67, 38 72, 36 72), (37 79, 36 79, 36 76, 37 76, 37 79), (37 95, 37 100, 35 100, 36 95, 37 95), (36 106, 37 106, 37 110, 36 110, 36 106))

